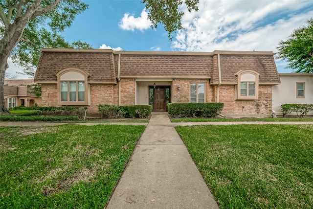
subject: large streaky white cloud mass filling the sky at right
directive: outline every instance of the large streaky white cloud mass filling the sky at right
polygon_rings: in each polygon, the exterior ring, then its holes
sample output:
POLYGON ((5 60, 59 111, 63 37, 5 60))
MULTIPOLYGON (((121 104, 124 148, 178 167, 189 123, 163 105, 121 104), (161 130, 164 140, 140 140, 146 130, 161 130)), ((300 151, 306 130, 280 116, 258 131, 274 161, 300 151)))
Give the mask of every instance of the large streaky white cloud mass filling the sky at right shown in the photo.
POLYGON ((198 12, 185 11, 185 30, 175 35, 172 49, 275 52, 281 40, 313 17, 309 8, 309 0, 200 0, 198 12))

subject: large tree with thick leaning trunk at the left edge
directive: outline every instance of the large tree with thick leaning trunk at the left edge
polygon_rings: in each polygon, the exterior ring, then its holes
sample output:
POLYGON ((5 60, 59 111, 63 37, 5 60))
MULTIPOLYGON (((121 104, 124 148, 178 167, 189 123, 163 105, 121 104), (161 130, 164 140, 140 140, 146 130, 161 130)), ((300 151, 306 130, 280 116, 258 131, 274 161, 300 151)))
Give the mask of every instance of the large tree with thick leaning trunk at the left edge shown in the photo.
POLYGON ((15 63, 36 66, 42 47, 74 47, 60 32, 88 7, 80 0, 1 0, 0 1, 0 115, 4 105, 4 77, 9 56, 15 63))

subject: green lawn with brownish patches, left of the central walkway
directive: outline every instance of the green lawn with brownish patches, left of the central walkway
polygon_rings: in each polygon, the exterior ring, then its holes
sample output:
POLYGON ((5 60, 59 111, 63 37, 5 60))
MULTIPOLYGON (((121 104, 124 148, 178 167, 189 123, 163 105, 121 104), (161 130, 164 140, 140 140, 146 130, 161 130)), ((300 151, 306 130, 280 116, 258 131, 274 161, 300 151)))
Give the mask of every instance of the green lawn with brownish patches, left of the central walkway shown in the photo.
POLYGON ((0 208, 101 208, 145 126, 0 127, 0 208))

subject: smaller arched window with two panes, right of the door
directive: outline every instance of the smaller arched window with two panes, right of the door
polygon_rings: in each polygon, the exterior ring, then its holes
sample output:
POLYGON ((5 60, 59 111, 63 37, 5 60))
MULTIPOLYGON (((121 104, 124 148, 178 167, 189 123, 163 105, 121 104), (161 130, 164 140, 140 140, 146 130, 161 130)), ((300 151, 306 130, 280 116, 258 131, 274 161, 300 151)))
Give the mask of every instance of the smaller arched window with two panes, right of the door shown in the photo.
POLYGON ((260 73, 254 70, 240 70, 235 75, 238 76, 237 99, 258 99, 260 73))

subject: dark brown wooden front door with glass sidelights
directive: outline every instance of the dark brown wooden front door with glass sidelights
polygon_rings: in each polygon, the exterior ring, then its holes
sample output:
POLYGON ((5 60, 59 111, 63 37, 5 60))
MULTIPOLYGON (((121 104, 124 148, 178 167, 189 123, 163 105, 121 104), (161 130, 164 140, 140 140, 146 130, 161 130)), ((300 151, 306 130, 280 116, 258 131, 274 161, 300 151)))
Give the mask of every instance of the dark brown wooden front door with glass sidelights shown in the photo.
POLYGON ((170 102, 170 87, 149 87, 149 104, 153 106, 153 112, 167 112, 167 104, 170 102))

